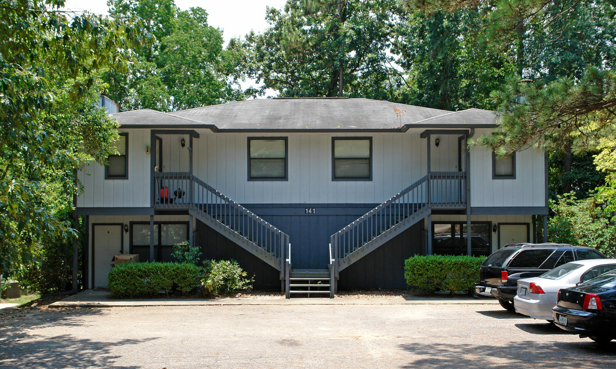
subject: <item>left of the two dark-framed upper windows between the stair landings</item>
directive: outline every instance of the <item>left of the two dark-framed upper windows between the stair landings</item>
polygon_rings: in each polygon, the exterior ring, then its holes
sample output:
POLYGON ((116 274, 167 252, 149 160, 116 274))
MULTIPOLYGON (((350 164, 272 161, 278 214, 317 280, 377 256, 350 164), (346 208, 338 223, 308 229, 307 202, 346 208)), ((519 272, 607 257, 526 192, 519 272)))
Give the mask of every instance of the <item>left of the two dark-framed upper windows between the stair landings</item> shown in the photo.
POLYGON ((248 139, 248 180, 287 180, 286 137, 248 139))

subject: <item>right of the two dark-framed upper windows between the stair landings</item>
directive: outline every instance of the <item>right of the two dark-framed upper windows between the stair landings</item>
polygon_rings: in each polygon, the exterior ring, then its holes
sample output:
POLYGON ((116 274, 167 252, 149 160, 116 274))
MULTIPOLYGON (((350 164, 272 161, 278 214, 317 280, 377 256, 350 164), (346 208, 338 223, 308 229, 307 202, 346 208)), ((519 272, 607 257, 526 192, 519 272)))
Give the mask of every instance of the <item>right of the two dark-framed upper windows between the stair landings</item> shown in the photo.
POLYGON ((372 180, 372 139, 333 138, 332 180, 372 180))

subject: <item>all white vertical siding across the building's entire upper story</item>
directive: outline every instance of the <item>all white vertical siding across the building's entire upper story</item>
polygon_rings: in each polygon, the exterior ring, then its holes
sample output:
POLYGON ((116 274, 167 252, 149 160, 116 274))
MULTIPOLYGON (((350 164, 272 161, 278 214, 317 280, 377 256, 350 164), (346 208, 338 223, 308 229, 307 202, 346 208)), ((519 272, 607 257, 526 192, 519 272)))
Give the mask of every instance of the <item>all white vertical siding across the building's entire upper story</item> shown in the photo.
MULTIPOLYGON (((150 206, 150 144, 148 129, 122 130, 129 137, 128 179, 105 180, 99 164, 79 172, 85 192, 79 207, 150 206), (85 172, 91 173, 86 176, 85 172)), ((428 140, 423 129, 400 133, 214 133, 199 130, 193 139, 193 172, 200 179, 239 203, 381 203, 423 177, 427 170, 428 140), (248 137, 288 138, 288 180, 248 180, 248 137), (372 137, 372 180, 337 181, 331 176, 333 137, 372 137)), ((479 132, 477 134, 480 134, 479 132)), ((161 135, 164 172, 188 171, 190 137, 161 135), (186 145, 180 146, 184 137, 186 145)), ((458 170, 458 137, 432 136, 433 171, 458 170), (439 138, 436 148, 434 139, 439 138)), ((543 152, 530 148, 516 153, 516 179, 492 179, 492 155, 471 150, 471 206, 544 206, 543 152)))

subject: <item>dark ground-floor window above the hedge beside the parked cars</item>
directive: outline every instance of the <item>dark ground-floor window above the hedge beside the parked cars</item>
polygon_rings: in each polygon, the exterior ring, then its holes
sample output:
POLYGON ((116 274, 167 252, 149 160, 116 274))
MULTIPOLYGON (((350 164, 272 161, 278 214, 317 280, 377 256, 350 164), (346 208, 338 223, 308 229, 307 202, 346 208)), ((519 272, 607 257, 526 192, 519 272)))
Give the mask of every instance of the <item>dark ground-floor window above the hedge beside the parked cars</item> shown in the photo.
MULTIPOLYGON (((492 224, 471 223, 472 256, 492 253, 492 224)), ((466 222, 433 222, 432 253, 437 255, 466 255, 466 222)))

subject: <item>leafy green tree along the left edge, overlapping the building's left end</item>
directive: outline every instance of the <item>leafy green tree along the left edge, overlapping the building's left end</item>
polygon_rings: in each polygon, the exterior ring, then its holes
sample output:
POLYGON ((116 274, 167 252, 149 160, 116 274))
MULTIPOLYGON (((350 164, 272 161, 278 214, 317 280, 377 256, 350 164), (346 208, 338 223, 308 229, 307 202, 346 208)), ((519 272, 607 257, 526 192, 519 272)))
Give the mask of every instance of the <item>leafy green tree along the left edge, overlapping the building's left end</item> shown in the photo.
POLYGON ((126 23, 61 12, 62 0, 0 0, 0 274, 31 262, 44 237, 67 237, 58 215, 73 170, 115 150, 115 121, 95 107, 101 68, 136 40, 126 23), (70 15, 70 17, 68 17, 70 15))

